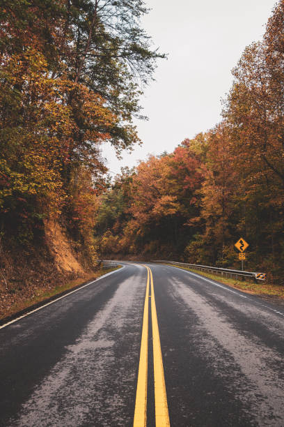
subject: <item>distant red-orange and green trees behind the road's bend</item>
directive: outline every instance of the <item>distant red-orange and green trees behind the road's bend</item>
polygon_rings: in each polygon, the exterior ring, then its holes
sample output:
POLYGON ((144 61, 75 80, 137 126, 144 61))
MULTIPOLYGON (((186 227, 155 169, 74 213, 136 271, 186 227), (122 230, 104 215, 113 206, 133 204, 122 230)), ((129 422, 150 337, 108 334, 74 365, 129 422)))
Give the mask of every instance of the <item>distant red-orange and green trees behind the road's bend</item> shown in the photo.
MULTIPOLYGON (((108 245, 108 250, 127 253, 178 253, 183 250, 187 239, 192 237, 187 220, 198 215, 196 191, 202 181, 199 166, 198 155, 191 151, 189 140, 185 140, 172 154, 150 156, 141 162, 135 172, 131 171, 130 177, 117 177, 113 188, 102 198, 102 209, 113 212, 113 199, 117 200, 121 194, 125 180, 127 203, 123 221, 120 221, 120 214, 115 224, 108 223, 107 234, 111 241, 114 242, 113 236, 119 234, 116 246, 108 245), (107 201, 111 205, 106 205, 107 201)), ((101 213, 97 232, 100 233, 103 224, 106 222, 101 213)))

